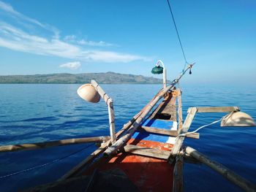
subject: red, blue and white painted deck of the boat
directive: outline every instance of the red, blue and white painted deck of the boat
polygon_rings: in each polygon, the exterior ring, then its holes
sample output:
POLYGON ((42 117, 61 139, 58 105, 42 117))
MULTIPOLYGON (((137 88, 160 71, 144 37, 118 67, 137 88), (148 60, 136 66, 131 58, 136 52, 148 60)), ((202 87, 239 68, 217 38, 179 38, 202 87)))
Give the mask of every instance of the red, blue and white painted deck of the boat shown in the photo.
MULTIPOLYGON (((175 104, 176 96, 169 93, 141 125, 177 130, 175 104)), ((121 169, 138 191, 173 191, 174 166, 167 162, 173 143, 168 141, 168 135, 148 133, 140 128, 129 139, 121 153, 110 158, 100 158, 83 172, 83 175, 93 174, 95 169, 102 172, 121 169)))

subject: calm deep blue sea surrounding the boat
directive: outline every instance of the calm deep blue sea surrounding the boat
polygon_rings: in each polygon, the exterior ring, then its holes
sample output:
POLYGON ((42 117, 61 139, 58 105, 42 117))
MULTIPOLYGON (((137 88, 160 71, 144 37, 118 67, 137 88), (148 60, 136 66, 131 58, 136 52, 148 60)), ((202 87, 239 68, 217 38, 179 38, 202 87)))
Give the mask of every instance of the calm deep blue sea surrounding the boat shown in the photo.
MULTIPOLYGON (((0 145, 108 135, 105 103, 86 103, 78 97, 78 87, 0 85, 0 145)), ((121 128, 139 112, 160 87, 102 85, 114 100, 116 128, 121 128)), ((185 86, 184 115, 188 107, 239 106, 256 119, 255 95, 256 87, 185 86)), ((222 115, 225 114, 198 114, 191 130, 218 120, 222 115)), ((200 139, 185 139, 185 144, 256 183, 255 138, 254 127, 221 128, 217 124, 200 130, 200 139)), ((0 153, 0 191, 17 191, 56 180, 95 149, 94 145, 85 144, 0 153), (80 152, 75 153, 78 150, 80 152), (20 172, 24 169, 27 171, 20 172), (20 173, 12 174, 15 172, 20 173)), ((184 183, 185 191, 241 191, 208 167, 197 164, 185 164, 184 183)))

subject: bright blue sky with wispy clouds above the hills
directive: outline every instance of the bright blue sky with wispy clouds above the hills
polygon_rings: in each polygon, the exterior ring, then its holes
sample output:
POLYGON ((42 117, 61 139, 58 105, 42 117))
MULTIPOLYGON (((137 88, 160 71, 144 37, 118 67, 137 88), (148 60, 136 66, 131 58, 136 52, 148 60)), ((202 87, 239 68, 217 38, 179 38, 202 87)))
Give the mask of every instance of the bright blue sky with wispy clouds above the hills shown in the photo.
MULTIPOLYGON (((256 81, 256 1, 170 0, 189 63, 184 82, 256 81)), ((184 68, 167 0, 0 0, 0 75, 184 68)))

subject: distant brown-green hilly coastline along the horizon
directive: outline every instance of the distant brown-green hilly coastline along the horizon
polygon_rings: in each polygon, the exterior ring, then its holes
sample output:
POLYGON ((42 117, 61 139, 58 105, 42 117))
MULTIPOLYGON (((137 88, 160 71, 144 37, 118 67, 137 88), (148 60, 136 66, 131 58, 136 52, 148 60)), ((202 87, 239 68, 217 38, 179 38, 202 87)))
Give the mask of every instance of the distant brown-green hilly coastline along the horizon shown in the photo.
POLYGON ((0 83, 87 83, 96 80, 104 84, 159 84, 161 79, 134 74, 83 73, 83 74, 34 74, 34 75, 2 75, 0 83))

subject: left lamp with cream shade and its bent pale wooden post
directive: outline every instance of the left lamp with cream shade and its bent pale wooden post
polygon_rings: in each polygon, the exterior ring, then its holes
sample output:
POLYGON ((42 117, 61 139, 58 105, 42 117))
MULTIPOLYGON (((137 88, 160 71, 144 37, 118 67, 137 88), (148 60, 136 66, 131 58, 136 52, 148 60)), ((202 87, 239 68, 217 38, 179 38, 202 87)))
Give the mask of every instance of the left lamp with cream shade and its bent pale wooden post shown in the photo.
POLYGON ((113 110, 113 100, 103 91, 99 84, 95 80, 91 80, 91 83, 81 85, 78 88, 78 95, 80 98, 97 103, 100 100, 100 97, 108 105, 108 118, 110 124, 110 139, 111 142, 116 142, 116 133, 115 133, 115 115, 113 110))

